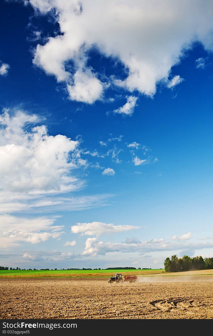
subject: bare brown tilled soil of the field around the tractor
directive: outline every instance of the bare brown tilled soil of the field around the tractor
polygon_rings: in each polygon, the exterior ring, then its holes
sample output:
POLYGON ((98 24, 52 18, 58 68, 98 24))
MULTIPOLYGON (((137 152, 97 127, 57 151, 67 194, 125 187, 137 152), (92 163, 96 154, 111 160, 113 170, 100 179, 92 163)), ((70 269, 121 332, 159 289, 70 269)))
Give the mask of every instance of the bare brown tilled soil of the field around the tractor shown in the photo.
POLYGON ((213 319, 213 275, 1 279, 0 289, 1 319, 213 319))

